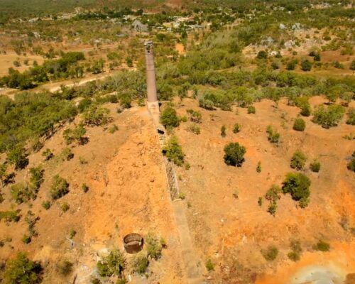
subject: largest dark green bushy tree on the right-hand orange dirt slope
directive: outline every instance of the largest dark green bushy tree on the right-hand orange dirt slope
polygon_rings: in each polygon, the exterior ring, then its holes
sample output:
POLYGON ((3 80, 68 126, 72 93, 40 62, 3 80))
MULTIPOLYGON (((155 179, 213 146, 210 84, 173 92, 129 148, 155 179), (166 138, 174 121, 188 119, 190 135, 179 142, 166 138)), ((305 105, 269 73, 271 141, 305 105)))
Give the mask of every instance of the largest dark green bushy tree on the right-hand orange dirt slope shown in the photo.
POLYGON ((301 207, 307 207, 310 197, 310 179, 302 173, 288 173, 283 182, 283 193, 290 193, 293 200, 300 201, 301 207))

